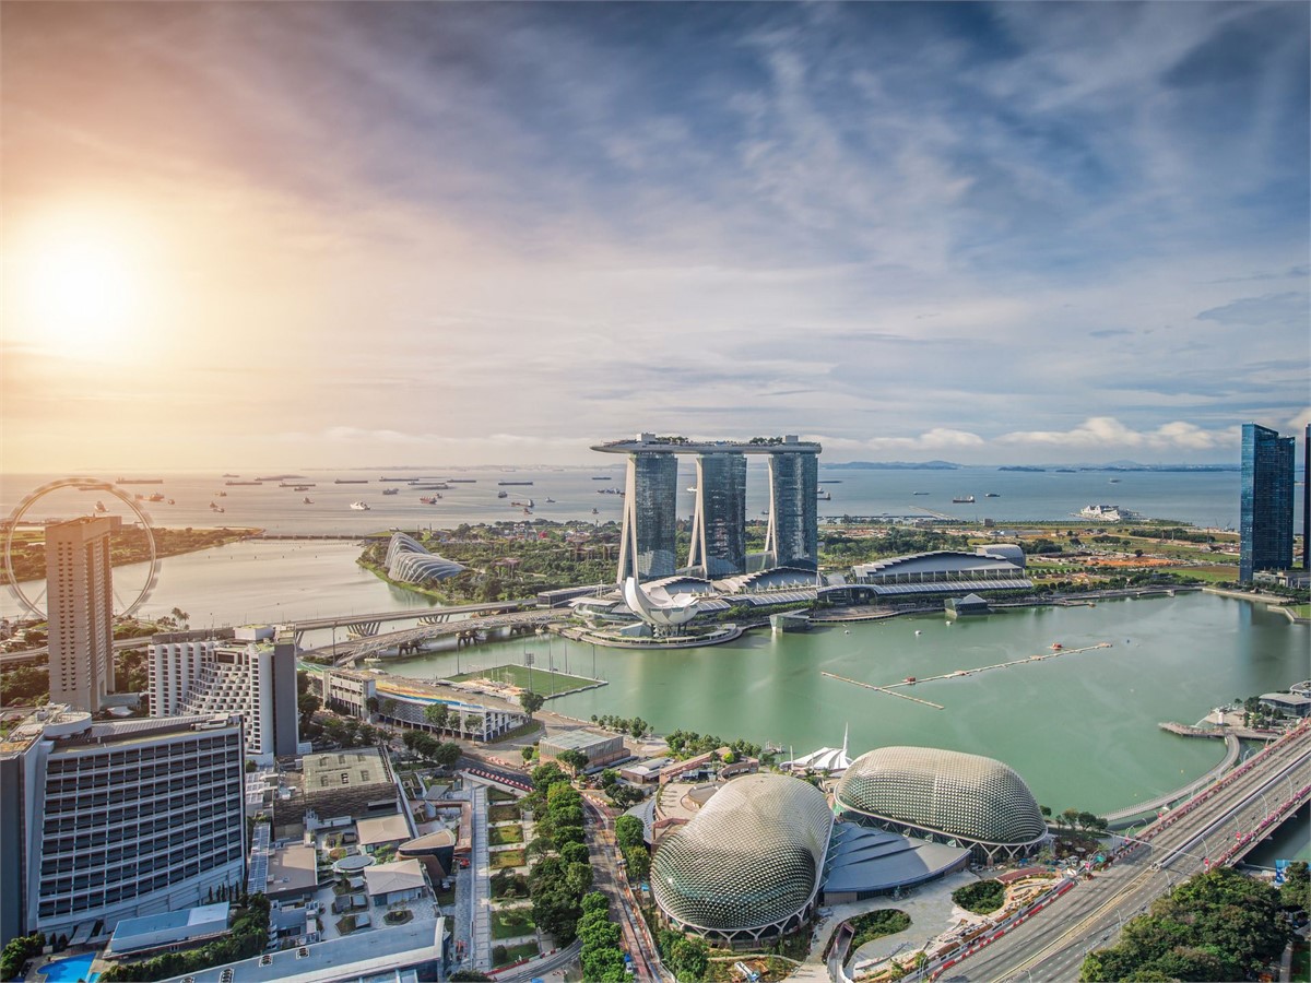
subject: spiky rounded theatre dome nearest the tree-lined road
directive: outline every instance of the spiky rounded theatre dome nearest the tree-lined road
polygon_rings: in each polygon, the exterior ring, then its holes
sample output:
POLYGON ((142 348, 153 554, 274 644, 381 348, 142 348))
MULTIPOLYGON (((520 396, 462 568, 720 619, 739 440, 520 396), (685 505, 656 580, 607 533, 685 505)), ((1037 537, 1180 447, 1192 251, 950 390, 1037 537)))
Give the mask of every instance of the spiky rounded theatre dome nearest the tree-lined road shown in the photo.
POLYGON ((831 834, 829 803, 809 782, 734 779, 657 848, 656 904, 675 928, 729 944, 791 932, 814 904, 831 834))

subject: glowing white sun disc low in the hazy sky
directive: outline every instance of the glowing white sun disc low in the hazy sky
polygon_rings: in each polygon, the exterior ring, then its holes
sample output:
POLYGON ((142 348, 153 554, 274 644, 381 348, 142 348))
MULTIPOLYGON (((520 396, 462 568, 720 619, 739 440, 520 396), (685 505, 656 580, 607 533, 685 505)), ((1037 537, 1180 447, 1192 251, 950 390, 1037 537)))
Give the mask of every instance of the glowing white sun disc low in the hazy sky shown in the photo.
POLYGON ((126 354, 143 315, 131 236, 60 222, 25 240, 10 257, 20 290, 5 334, 67 358, 126 354))

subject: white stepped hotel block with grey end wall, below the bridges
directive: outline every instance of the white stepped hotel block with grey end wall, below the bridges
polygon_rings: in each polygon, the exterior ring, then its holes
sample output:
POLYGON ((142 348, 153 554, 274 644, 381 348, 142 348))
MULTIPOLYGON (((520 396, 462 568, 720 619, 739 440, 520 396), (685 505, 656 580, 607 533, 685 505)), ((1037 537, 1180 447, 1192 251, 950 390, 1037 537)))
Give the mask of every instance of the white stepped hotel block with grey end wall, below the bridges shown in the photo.
POLYGON ((157 634, 151 640, 151 716, 241 714, 246 755, 271 764, 299 738, 296 646, 270 626, 157 634))

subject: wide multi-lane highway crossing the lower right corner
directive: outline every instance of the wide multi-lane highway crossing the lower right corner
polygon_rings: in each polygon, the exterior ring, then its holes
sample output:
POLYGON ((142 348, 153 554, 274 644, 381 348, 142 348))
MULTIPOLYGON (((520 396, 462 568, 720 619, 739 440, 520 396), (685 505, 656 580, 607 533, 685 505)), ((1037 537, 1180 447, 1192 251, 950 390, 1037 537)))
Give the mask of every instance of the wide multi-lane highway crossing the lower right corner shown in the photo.
POLYGON ((1143 830, 1142 845, 1080 881, 1065 898, 1021 921, 935 979, 1045 983, 1079 978, 1087 953, 1114 945, 1124 923, 1210 864, 1235 862, 1260 841, 1262 820, 1311 785, 1311 729, 1273 744, 1209 794, 1143 830), (1244 840, 1243 838, 1248 838, 1244 840), (1238 856, 1224 856, 1231 847, 1238 856))

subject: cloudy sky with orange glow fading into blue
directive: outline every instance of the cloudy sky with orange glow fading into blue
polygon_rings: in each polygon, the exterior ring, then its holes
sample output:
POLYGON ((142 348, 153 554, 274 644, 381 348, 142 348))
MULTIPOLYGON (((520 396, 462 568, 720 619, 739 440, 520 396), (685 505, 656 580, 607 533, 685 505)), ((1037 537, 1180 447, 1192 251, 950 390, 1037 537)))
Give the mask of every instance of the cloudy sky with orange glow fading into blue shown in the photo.
POLYGON ((5 472, 1236 463, 1304 3, 0 4, 5 472))

